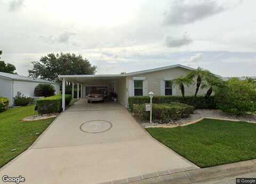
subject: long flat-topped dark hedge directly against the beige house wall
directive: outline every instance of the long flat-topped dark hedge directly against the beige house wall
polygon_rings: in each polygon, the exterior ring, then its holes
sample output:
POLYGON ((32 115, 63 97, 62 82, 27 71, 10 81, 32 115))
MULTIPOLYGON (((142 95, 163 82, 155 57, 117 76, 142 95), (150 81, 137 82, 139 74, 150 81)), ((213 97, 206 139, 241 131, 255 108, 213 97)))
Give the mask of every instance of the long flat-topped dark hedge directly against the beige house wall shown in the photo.
MULTIPOLYGON (((129 97, 129 109, 133 110, 133 104, 138 103, 149 103, 150 98, 148 96, 142 97, 129 97)), ((216 102, 214 100, 214 96, 210 98, 205 98, 203 96, 198 97, 180 97, 180 96, 154 96, 152 99, 153 103, 185 103, 190 106, 194 106, 196 109, 217 109, 216 102)))

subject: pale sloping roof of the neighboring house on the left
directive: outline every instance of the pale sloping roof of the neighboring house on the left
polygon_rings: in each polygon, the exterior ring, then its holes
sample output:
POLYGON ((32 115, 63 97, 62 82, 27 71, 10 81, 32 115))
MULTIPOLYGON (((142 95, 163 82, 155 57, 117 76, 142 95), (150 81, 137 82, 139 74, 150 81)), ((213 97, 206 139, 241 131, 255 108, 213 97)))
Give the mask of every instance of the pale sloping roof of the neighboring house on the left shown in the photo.
POLYGON ((58 83, 55 83, 55 82, 52 82, 52 81, 47 81, 47 80, 44 80, 44 79, 41 79, 41 78, 33 78, 33 77, 9 74, 9 73, 4 73, 4 72, 0 72, 0 77, 9 78, 9 79, 13 79, 13 80, 16 80, 16 81, 30 81, 30 82, 58 84, 58 83))

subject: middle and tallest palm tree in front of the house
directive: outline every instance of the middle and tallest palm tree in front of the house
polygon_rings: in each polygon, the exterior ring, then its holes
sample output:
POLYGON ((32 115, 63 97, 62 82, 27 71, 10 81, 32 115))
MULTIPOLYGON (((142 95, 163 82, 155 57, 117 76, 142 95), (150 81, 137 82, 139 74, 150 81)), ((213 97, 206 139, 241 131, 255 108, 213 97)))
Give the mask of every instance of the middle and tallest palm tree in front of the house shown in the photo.
POLYGON ((196 70, 191 70, 188 72, 187 77, 190 79, 196 78, 196 92, 195 97, 199 91, 199 87, 201 86, 201 83, 205 81, 206 77, 214 76, 210 71, 205 70, 203 68, 198 67, 196 70))

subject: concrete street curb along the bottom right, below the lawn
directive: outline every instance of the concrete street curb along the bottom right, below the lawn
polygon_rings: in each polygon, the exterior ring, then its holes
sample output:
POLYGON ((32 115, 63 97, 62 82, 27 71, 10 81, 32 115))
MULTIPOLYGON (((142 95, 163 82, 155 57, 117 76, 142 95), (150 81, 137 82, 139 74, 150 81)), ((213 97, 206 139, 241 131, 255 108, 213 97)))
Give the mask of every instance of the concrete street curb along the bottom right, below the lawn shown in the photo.
POLYGON ((207 167, 204 169, 193 169, 193 167, 191 167, 178 170, 159 171, 155 173, 142 174, 137 177, 107 181, 98 184, 215 183, 235 179, 248 173, 256 174, 256 159, 207 167))

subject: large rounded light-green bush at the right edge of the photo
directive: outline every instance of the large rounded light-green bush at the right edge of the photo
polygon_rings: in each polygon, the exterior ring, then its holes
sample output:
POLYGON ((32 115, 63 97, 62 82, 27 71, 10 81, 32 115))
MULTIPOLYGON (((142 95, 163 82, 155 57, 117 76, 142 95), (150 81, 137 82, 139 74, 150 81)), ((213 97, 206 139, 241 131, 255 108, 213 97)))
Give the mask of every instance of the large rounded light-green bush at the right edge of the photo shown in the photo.
POLYGON ((237 116, 256 111, 256 84, 253 81, 231 78, 227 86, 215 93, 219 109, 237 116))

